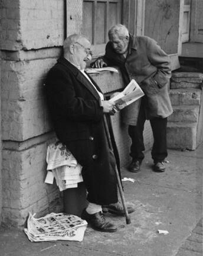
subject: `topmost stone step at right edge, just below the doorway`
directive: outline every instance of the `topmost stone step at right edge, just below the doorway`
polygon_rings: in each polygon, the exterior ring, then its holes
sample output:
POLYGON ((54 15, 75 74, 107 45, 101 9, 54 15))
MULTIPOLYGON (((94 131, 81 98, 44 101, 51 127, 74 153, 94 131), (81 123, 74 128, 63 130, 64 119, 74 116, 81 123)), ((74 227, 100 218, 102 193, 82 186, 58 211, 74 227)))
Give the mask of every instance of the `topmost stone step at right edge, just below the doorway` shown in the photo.
POLYGON ((198 72, 173 72, 171 89, 202 88, 203 73, 198 72))

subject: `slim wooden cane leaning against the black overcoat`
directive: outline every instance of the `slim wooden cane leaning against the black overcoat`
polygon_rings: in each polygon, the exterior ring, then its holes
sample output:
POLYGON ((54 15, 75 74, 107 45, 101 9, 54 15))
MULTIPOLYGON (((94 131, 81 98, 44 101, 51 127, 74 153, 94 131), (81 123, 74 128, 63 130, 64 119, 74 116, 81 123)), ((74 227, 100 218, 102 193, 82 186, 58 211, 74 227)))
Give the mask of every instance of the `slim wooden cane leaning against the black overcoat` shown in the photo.
MULTIPOLYGON (((106 129, 106 134, 107 134, 107 139, 108 139, 108 142, 109 142, 109 147, 113 151, 112 140, 110 138, 106 116, 104 116, 104 126, 105 126, 105 129, 106 129)), ((123 204, 123 209, 124 209, 125 216, 126 216, 126 224, 130 224, 131 220, 130 220, 129 213, 127 212, 126 200, 125 200, 125 196, 124 196, 124 193, 123 193, 122 184, 120 182, 120 176, 119 176, 119 171, 117 169, 117 165, 116 165, 116 168, 114 168, 114 171, 115 171, 115 174, 116 174, 117 185, 119 187, 119 193, 120 193, 120 197, 121 197, 122 204, 123 204)))

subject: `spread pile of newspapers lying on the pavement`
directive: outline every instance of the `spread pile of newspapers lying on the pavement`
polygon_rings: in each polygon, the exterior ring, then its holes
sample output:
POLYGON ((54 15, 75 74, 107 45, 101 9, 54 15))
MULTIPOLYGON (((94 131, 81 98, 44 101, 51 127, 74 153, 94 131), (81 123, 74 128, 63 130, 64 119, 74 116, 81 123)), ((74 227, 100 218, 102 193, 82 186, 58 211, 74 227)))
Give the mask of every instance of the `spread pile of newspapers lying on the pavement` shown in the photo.
POLYGON ((87 228, 86 220, 67 213, 50 213, 36 219, 29 213, 24 232, 31 242, 40 241, 83 241, 87 228))

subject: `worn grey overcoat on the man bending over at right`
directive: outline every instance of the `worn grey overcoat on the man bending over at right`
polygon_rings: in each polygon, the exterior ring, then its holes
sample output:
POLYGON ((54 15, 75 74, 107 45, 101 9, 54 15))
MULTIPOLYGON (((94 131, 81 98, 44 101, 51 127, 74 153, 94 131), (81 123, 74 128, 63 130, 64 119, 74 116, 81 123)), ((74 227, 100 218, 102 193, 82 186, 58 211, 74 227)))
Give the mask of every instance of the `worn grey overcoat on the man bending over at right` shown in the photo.
MULTIPOLYGON (((171 63, 169 56, 161 49, 155 40, 146 36, 129 34, 129 48, 126 58, 116 53, 109 41, 103 57, 108 65, 119 66, 127 85, 135 79, 145 92, 146 118, 165 118, 172 114, 169 98, 169 81, 171 63)), ((123 110, 123 121, 136 125, 140 100, 123 110)))

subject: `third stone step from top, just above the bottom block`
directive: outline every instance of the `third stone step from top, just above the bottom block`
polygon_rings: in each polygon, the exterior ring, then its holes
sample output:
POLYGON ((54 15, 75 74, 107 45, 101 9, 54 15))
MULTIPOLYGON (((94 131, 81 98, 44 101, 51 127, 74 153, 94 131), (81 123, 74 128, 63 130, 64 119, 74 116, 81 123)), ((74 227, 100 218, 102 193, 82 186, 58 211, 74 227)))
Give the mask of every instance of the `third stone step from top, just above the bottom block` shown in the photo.
POLYGON ((173 106, 173 113, 168 117, 171 122, 198 123, 199 106, 178 105, 173 106))

